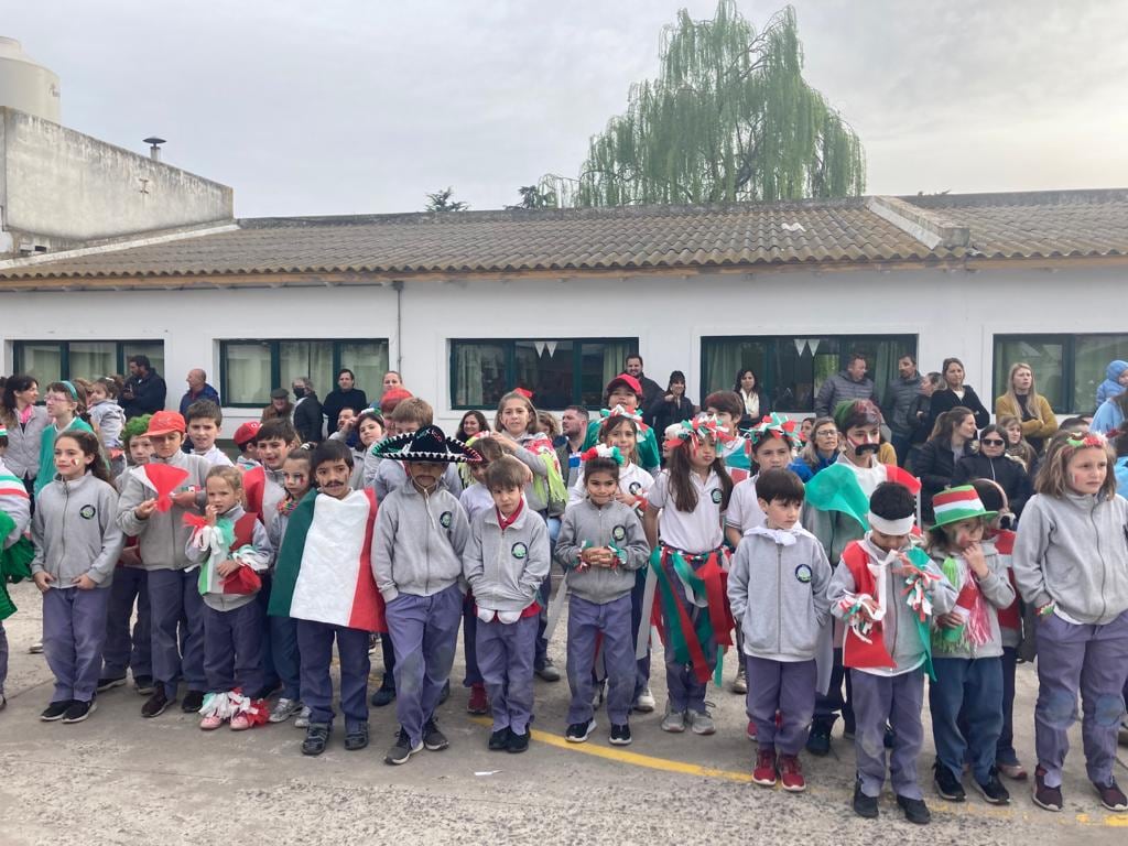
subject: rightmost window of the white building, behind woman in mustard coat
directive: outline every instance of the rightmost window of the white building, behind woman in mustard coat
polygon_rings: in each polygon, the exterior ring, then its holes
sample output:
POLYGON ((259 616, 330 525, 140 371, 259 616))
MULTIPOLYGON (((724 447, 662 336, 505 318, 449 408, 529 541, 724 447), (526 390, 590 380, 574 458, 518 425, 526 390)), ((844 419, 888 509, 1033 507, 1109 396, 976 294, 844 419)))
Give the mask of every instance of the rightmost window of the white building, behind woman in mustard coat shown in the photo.
POLYGON ((1128 335, 996 335, 994 346, 994 396, 1006 393, 1011 367, 1021 361, 1058 414, 1092 412, 1109 362, 1128 360, 1128 335))

